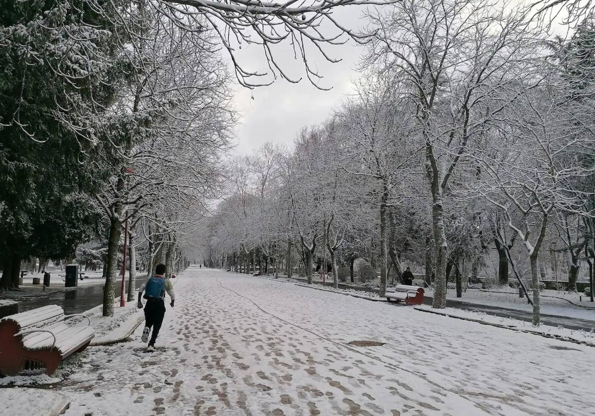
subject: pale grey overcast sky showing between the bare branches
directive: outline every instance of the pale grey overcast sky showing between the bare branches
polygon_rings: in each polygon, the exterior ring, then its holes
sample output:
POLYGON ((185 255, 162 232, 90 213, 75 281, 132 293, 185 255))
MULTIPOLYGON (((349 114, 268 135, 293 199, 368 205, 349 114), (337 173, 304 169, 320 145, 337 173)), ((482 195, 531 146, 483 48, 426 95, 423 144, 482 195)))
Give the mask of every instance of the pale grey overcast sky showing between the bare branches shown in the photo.
MULTIPOLYGON (((361 12, 362 8, 359 7, 345 7, 334 15, 344 26, 359 27, 362 24, 361 12)), ((260 49, 247 49, 250 52, 249 55, 242 56, 243 64, 250 69, 264 69, 264 57, 260 49)), ((322 91, 312 86, 305 78, 302 62, 293 60, 289 45, 279 45, 275 51, 278 52, 278 62, 293 70, 292 74, 296 77, 304 78, 298 84, 278 79, 271 86, 254 90, 236 87, 234 102, 242 115, 242 124, 237 131, 238 153, 251 153, 267 141, 291 143, 303 126, 324 121, 340 100, 352 92, 351 80, 359 75, 353 67, 358 64, 363 48, 353 41, 346 45, 328 45, 326 51, 329 55, 342 58, 342 61, 336 64, 326 61, 315 51, 308 54, 310 63, 315 64, 324 77, 320 85, 325 88, 332 87, 330 91, 322 91), (254 99, 251 99, 252 94, 254 99)))

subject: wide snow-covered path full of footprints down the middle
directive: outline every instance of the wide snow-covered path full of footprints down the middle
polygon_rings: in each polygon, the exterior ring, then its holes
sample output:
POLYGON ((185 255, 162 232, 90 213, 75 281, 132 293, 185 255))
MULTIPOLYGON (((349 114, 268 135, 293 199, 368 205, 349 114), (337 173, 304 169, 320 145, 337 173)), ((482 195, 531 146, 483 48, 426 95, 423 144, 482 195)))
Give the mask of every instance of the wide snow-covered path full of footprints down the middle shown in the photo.
POLYGON ((176 292, 157 351, 65 365, 66 415, 593 414, 586 346, 219 270, 176 292))

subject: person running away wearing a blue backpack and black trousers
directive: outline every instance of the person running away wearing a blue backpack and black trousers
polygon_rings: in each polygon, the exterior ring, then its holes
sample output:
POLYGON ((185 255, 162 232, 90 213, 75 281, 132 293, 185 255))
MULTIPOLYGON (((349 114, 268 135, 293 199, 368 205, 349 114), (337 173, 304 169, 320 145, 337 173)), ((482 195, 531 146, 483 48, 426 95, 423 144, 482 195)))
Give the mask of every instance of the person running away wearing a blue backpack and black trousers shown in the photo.
POLYGON ((170 295, 171 307, 174 307, 174 300, 176 299, 173 283, 169 279, 165 279, 164 275, 165 264, 158 264, 155 267, 155 275, 151 276, 139 288, 139 309, 143 307, 143 302, 141 301, 143 291, 145 292, 144 298, 147 300, 145 305, 145 329, 143 329, 143 335, 140 339, 143 342, 147 342, 149 332, 151 332, 151 328, 153 329, 151 341, 149 341, 149 345, 147 346, 148 351, 155 349, 155 341, 163 323, 163 317, 165 316, 165 292, 170 295))

